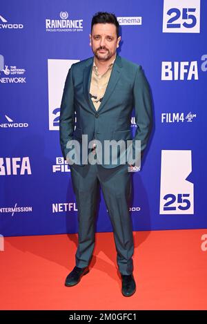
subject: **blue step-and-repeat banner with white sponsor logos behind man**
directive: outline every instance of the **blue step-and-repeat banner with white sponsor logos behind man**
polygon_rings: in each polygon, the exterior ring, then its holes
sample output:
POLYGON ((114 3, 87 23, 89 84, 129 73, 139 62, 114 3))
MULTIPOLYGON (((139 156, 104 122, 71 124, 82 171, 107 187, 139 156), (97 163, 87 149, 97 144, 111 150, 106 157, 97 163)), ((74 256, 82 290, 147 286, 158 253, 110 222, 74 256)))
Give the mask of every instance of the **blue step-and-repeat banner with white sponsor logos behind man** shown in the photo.
MULTIPOLYGON (((1 0, 3 236, 77 233, 59 113, 68 68, 93 56, 90 23, 98 11, 118 17, 119 55, 142 66, 152 92, 153 130, 132 175, 133 229, 207 227, 207 1, 1 0)), ((96 231, 112 231, 101 191, 100 198, 96 231)))

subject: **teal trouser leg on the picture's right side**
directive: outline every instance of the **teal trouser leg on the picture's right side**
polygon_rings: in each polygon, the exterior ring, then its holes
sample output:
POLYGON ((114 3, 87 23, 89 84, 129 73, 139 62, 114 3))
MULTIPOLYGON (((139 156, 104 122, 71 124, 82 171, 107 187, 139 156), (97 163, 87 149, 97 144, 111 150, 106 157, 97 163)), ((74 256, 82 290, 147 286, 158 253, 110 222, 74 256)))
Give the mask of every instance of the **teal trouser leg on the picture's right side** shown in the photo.
MULTIPOLYGON (((110 172, 110 169, 104 172, 110 172)), ((115 246, 117 250, 117 265, 121 274, 132 274, 134 242, 132 222, 129 212, 129 202, 132 189, 132 174, 124 165, 104 181, 99 179, 103 197, 112 223, 115 246)))

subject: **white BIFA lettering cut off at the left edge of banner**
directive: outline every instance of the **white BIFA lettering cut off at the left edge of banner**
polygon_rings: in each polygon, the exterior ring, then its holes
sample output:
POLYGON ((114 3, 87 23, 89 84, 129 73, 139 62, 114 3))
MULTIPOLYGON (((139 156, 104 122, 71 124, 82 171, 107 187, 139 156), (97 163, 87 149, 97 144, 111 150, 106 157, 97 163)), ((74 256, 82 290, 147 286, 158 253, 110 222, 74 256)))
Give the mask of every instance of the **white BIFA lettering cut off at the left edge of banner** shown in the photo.
POLYGON ((0 158, 0 175, 30 175, 32 174, 30 158, 0 158))

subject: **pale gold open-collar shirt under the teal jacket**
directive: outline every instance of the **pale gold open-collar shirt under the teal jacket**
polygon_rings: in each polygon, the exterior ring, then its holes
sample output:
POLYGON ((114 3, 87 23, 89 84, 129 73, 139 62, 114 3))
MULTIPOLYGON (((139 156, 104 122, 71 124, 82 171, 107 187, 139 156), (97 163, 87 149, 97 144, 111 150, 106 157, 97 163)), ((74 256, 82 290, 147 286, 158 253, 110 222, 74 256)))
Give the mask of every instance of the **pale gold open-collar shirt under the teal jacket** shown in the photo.
MULTIPOLYGON (((117 54, 115 56, 115 59, 116 57, 117 54)), ((90 98, 92 100, 93 105, 95 106, 96 111, 98 110, 103 99, 103 95, 106 92, 106 87, 108 86, 110 73, 112 71, 112 66, 115 62, 115 59, 109 64, 108 69, 102 75, 99 74, 98 67, 95 64, 95 59, 93 59, 92 75, 90 80, 90 98)), ((93 144, 94 148, 95 146, 96 145, 93 144)))

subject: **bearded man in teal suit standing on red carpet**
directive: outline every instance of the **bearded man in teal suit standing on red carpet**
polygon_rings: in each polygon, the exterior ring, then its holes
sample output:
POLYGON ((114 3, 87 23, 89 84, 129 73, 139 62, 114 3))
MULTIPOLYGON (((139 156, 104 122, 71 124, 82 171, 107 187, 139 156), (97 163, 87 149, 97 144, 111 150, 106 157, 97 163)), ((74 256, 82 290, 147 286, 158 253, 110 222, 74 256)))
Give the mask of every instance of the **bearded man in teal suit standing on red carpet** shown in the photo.
POLYGON ((60 144, 63 157, 70 164, 79 221, 76 265, 65 284, 77 285, 89 271, 95 246, 94 222, 100 184, 114 233, 121 292, 124 296, 132 296, 136 285, 132 274, 134 242, 129 213, 132 173, 129 171, 137 166, 139 153, 143 155, 148 143, 152 100, 141 66, 117 54, 120 40, 115 15, 97 12, 92 17, 90 34, 94 56, 72 64, 63 90, 60 144), (130 131, 133 108, 137 124, 134 138, 130 131), (106 153, 104 144, 112 140, 113 143, 121 140, 122 144, 131 140, 130 149, 117 146, 116 156, 110 150, 106 153), (79 144, 77 149, 75 141, 79 144), (141 145, 136 146, 137 142, 141 145), (132 160, 121 163, 129 151, 134 154, 135 163, 132 160))

